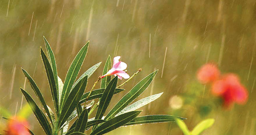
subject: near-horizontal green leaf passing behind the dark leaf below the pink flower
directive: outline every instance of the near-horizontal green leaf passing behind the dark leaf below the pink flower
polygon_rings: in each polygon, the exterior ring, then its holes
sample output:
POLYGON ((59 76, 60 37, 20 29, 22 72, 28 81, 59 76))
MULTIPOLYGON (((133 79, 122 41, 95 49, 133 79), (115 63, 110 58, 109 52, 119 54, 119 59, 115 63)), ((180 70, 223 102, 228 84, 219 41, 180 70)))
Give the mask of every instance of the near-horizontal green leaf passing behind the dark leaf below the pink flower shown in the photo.
MULTIPOLYGON (((102 96, 104 90, 105 90, 105 88, 100 88, 100 89, 93 90, 87 101, 100 98, 102 96)), ((119 92, 122 92, 123 90, 124 89, 116 88, 114 94, 118 94, 119 92)), ((82 96, 82 98, 80 99, 80 102, 79 102, 80 104, 85 102, 85 99, 89 95, 89 93, 90 92, 86 92, 85 94, 83 94, 83 96, 82 96)))

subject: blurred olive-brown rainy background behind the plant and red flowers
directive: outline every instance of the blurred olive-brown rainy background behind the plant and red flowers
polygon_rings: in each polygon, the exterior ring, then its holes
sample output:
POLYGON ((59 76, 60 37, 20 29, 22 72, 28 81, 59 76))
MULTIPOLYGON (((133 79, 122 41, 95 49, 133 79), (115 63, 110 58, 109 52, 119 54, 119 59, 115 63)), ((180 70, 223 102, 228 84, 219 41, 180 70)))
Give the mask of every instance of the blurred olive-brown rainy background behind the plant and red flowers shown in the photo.
MULTIPOLYGON (((138 98, 164 92, 140 115, 185 117, 189 130, 203 119, 215 123, 203 135, 256 134, 256 4, 255 0, 1 0, 0 106, 19 112, 20 87, 34 99, 20 68, 33 77, 46 103, 54 108, 40 58, 43 36, 56 57, 58 75, 65 75, 72 59, 90 40, 79 76, 102 61, 89 78, 89 91, 102 74, 108 55, 121 56, 132 76, 126 90, 114 95, 107 112, 145 76, 159 69, 150 87, 138 98), (248 90, 245 105, 229 110, 201 85, 197 69, 214 61, 222 73, 234 72, 248 90), (26 82, 26 83, 25 83, 26 82)), ((125 80, 119 81, 119 84, 125 80)), ((96 86, 99 88, 100 84, 96 86)), ((137 100, 136 100, 137 101, 137 100)), ((25 99, 23 105, 26 103, 25 99)), ((0 130, 6 121, 0 120, 0 130)), ((31 114, 30 128, 45 134, 31 114)), ((175 123, 127 126, 108 135, 182 135, 175 123)))

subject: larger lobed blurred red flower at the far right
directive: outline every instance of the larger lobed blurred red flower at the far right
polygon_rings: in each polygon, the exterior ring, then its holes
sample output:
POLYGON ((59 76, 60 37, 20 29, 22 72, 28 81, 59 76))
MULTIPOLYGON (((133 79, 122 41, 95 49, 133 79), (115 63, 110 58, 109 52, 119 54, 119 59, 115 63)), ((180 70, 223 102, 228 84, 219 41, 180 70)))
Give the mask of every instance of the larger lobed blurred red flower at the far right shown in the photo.
POLYGON ((225 74, 221 79, 213 82, 211 91, 213 95, 223 98, 223 106, 226 108, 233 103, 245 104, 248 98, 246 88, 235 74, 225 74))

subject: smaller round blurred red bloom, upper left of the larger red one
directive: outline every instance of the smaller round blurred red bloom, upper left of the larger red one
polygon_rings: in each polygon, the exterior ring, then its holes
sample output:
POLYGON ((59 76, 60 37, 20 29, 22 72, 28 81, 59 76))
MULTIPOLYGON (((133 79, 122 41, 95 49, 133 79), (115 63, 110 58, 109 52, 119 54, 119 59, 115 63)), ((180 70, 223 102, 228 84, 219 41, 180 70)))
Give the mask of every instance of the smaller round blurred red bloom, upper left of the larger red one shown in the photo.
POLYGON ((213 83, 220 76, 219 69, 214 63, 207 63, 203 65, 197 72, 197 79, 200 83, 213 83))

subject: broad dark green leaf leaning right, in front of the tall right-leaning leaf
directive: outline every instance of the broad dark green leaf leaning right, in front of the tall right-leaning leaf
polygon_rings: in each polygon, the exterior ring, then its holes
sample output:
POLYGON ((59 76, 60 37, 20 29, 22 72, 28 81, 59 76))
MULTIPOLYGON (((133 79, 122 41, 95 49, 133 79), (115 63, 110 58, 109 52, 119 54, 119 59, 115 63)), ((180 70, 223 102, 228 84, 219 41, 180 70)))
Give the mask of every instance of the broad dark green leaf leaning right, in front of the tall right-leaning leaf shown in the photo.
POLYGON ((62 111, 59 115, 58 128, 60 128, 67 121, 69 116, 72 114, 72 112, 78 105, 78 102, 82 97, 82 94, 85 90, 86 85, 87 85, 87 76, 81 79, 79 83, 77 83, 77 85, 74 86, 74 88, 71 90, 69 96, 67 97, 66 102, 63 105, 62 111))

